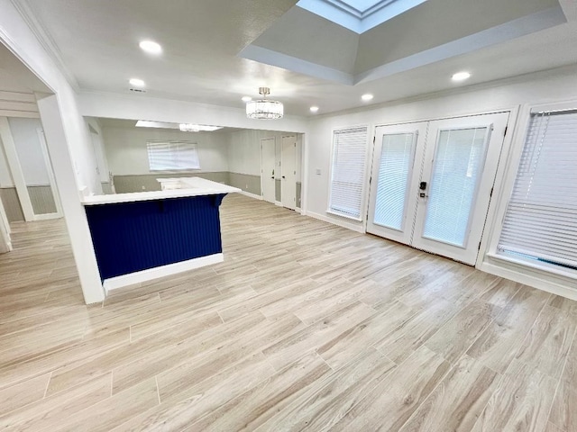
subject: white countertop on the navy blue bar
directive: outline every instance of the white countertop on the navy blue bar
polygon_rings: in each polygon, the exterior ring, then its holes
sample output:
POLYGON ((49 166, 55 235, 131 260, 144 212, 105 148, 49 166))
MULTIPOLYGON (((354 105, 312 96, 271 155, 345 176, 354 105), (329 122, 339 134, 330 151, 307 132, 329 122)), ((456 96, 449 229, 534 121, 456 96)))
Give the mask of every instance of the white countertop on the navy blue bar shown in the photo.
POLYGON ((82 200, 83 205, 114 204, 117 202, 137 202, 164 200, 166 198, 182 198, 185 196, 215 195, 219 193, 241 192, 238 187, 227 186, 226 184, 212 182, 200 177, 182 177, 171 179, 159 179, 161 183, 165 181, 180 182, 180 189, 170 189, 165 191, 135 192, 135 193, 113 193, 109 195, 92 195, 82 200))

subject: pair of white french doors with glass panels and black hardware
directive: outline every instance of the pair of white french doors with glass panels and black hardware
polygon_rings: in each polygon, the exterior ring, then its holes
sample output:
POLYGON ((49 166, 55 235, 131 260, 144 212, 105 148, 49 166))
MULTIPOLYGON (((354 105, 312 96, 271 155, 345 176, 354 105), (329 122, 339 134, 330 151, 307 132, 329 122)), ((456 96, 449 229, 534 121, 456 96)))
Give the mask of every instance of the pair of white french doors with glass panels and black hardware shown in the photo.
POLYGON ((377 128, 367 231, 474 265, 508 112, 377 128))

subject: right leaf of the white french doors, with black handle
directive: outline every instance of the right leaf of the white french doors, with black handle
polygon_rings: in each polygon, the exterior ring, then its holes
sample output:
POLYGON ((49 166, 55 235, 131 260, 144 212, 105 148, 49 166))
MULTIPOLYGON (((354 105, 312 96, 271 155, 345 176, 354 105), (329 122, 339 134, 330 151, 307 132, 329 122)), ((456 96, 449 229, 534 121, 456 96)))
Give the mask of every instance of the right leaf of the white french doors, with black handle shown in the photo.
POLYGON ((474 265, 508 112, 431 121, 412 246, 474 265))

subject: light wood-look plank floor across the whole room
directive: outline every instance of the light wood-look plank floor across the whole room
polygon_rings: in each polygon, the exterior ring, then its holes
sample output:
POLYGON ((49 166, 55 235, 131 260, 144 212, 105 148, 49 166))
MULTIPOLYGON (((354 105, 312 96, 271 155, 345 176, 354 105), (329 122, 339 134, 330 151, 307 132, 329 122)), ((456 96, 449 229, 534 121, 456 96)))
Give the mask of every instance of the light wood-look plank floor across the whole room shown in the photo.
POLYGON ((577 431, 577 302, 228 196, 225 261, 85 306, 0 256, 0 430, 577 431))

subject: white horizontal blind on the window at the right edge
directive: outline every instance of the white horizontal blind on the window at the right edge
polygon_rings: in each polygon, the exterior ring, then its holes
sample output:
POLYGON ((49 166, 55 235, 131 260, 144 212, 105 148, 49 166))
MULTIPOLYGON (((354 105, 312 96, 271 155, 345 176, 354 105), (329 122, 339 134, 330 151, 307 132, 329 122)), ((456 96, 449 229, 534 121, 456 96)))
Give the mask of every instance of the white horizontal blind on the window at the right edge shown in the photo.
POLYGON ((531 116, 498 252, 577 268, 577 110, 531 116))

